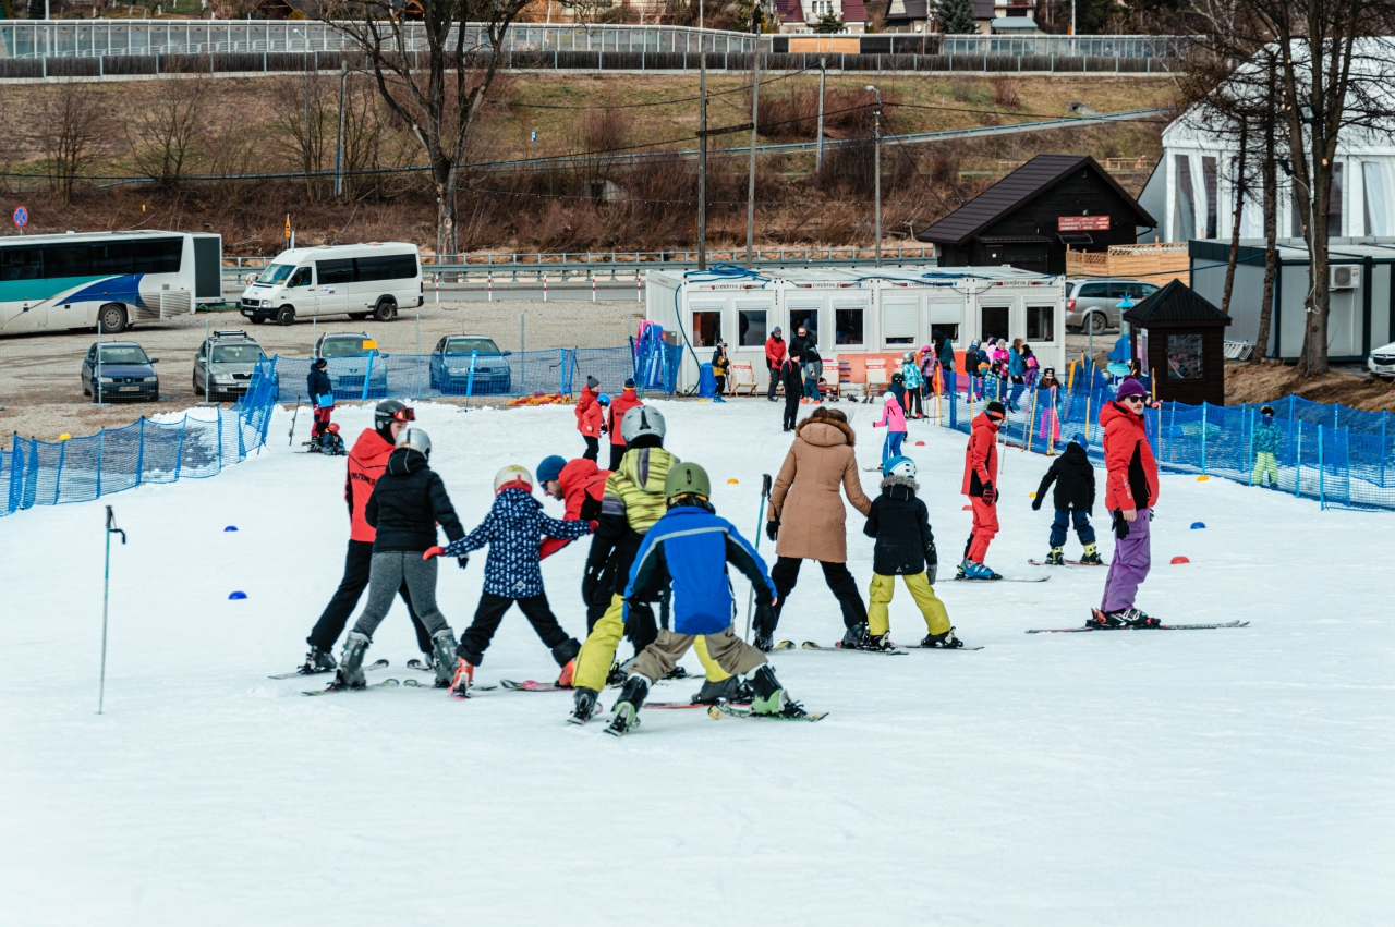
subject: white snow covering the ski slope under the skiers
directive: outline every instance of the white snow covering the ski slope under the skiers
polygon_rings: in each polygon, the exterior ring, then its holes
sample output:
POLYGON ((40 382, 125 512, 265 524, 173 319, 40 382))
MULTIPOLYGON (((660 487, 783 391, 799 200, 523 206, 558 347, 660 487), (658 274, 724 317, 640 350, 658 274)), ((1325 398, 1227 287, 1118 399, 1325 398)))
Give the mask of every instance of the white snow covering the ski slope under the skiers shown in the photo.
MULTIPOLYGON (((790 443, 778 406, 661 407, 670 447, 709 468, 718 512, 752 531, 760 474, 790 443)), ((873 407, 843 408, 876 463, 873 407)), ((582 450, 571 408, 417 410, 467 526, 501 466, 582 450)), ((352 436, 368 413, 336 418, 352 436)), ((303 655, 347 537, 343 460, 290 453, 286 428, 279 414, 271 447, 212 480, 0 520, 4 923, 1389 923, 1388 514, 1163 477, 1140 606, 1250 627, 1028 636, 1080 625, 1103 570, 942 580, 960 636, 985 650, 776 654, 790 691, 829 718, 647 711, 615 740, 564 723, 568 694, 306 698, 326 677, 268 679, 303 655), (105 503, 130 544, 112 553, 98 717, 105 503)), ((921 422, 907 445, 946 579, 970 527, 963 447, 921 422)), ((1032 573, 1027 558, 1046 553, 1050 516, 1028 507, 1045 468, 1004 454, 1000 572, 1032 573)), ((865 590, 872 544, 851 510, 848 527, 865 590)), ((544 565, 575 634, 586 544, 544 565)), ((441 572, 456 633, 481 579, 478 559, 441 572)), ((840 631, 805 565, 780 636, 840 631)), ((898 588, 893 636, 923 633, 898 588)), ((416 655, 399 604, 370 650, 392 669, 374 677, 425 682, 403 669, 416 655)), ((554 672, 513 611, 480 677, 554 672)))

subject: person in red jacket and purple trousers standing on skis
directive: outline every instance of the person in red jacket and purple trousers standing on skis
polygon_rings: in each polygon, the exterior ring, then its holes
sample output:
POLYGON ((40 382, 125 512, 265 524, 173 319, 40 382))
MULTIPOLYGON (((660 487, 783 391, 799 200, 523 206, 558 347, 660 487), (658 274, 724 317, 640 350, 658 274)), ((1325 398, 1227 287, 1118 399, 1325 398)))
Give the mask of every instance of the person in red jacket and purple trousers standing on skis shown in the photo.
POLYGON ((1152 563, 1152 506, 1158 502, 1158 463, 1148 445, 1143 410, 1148 393, 1134 378, 1124 378, 1115 401, 1105 404, 1099 424, 1105 429, 1105 507, 1113 513, 1115 556, 1105 580, 1105 595, 1089 623, 1096 627, 1155 627, 1159 622, 1134 606, 1138 585, 1152 563))

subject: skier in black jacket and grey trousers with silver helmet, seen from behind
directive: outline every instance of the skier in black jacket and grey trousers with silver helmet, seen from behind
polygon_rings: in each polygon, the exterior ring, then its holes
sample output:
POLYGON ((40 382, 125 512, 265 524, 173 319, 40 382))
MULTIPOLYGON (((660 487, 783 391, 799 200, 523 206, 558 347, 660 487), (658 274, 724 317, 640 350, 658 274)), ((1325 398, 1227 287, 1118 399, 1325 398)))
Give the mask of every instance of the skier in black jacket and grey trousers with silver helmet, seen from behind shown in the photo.
MULTIPOLYGON (((417 616, 431 633, 435 651, 435 684, 451 684, 455 669, 455 633, 435 604, 437 560, 427 551, 437 546, 437 524, 451 541, 465 537, 445 482, 430 467, 431 438, 420 428, 398 436, 398 449, 388 457, 388 470, 368 498, 364 519, 377 531, 368 574, 368 604, 345 640, 335 689, 361 689, 363 657, 372 633, 386 618, 398 588, 406 580, 417 616)), ((459 558, 460 567, 469 558, 459 558)))

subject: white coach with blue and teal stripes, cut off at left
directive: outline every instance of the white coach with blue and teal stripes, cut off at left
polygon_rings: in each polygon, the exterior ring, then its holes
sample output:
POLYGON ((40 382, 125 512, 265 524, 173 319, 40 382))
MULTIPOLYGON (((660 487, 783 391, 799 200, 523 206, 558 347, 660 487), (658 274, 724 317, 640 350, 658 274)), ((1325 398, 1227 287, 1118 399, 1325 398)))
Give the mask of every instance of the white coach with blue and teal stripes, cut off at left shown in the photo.
POLYGON ((0 335, 186 315, 223 300, 223 238, 183 231, 0 237, 0 335))

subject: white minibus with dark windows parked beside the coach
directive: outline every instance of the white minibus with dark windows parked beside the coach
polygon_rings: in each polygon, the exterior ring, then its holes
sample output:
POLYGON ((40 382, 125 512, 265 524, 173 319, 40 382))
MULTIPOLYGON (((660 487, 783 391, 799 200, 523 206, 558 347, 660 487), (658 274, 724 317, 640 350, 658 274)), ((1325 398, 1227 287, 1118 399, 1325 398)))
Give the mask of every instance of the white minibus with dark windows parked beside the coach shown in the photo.
POLYGON ((247 284, 243 315, 254 325, 276 319, 290 325, 296 316, 370 315, 389 322, 402 307, 421 305, 421 261, 414 244, 370 244, 292 248, 247 284))

